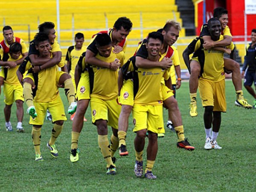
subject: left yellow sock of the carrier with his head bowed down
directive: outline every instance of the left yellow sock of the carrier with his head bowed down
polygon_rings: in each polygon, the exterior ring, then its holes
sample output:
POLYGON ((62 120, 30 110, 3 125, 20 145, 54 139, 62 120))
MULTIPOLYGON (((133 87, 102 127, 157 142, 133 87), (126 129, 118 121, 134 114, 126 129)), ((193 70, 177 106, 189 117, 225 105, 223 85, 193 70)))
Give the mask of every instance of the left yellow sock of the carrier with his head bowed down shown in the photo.
POLYGON ((107 163, 107 167, 110 167, 111 165, 114 166, 111 159, 111 150, 108 141, 108 135, 98 135, 98 143, 100 151, 102 152, 102 155, 107 163))

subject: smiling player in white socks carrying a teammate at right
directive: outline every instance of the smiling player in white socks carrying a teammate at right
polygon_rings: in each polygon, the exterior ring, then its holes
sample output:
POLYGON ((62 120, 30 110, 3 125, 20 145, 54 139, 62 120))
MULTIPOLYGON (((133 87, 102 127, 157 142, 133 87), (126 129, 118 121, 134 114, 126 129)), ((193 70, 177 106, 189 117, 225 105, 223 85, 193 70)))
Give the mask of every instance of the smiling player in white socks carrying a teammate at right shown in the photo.
MULTIPOLYGON (((217 43, 224 39, 221 35, 221 22, 217 18, 209 19, 208 30, 212 41, 217 43)), ((204 49, 203 44, 202 38, 195 38, 183 52, 183 57, 186 65, 189 66, 189 55, 194 52, 192 61, 198 61, 201 65, 199 93, 205 109, 204 148, 221 149, 216 140, 221 126, 221 112, 226 112, 224 52, 204 49)), ((230 44, 227 48, 233 50, 234 44, 230 44)))

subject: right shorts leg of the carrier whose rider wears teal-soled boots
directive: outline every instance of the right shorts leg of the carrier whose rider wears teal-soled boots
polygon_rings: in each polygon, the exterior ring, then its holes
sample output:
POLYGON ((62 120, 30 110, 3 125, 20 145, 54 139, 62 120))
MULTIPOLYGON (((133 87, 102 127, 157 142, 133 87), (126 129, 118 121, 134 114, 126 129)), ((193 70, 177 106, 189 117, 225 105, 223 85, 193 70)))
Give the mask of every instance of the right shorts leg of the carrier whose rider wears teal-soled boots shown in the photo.
POLYGON ((65 115, 64 105, 61 100, 61 96, 58 94, 56 99, 49 102, 48 110, 52 115, 52 122, 55 121, 66 121, 67 117, 65 115))

